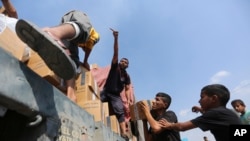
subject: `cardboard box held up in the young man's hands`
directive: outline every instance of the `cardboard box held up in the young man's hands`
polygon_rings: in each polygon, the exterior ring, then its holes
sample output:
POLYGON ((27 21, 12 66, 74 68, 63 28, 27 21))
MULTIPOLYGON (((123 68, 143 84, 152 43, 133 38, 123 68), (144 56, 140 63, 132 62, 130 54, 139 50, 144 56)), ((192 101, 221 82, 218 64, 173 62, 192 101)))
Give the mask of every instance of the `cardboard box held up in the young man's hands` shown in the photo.
MULTIPOLYGON (((142 100, 142 102, 145 103, 149 107, 149 109, 152 109, 153 105, 152 100, 142 100)), ((142 110, 138 105, 138 102, 135 103, 134 105, 131 105, 129 109, 132 121, 146 119, 144 112, 142 112, 142 110)))

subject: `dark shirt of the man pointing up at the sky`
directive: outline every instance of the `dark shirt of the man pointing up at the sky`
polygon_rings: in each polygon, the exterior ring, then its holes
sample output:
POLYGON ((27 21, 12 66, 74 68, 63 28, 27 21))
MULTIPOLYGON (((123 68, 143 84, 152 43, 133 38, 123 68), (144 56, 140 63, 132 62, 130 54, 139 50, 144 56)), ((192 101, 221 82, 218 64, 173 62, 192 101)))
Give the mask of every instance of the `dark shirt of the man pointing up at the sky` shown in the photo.
POLYGON ((130 77, 126 70, 121 69, 118 62, 111 64, 108 78, 104 85, 105 91, 110 93, 120 94, 125 85, 130 84, 130 77))

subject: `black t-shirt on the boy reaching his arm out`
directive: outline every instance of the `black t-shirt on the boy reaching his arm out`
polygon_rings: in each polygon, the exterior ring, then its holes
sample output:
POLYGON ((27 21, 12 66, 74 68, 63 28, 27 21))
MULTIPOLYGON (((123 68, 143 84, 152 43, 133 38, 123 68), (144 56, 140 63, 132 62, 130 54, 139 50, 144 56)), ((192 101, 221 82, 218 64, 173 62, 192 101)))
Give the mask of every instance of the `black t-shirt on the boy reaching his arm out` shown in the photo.
POLYGON ((229 141, 229 125, 241 124, 239 117, 223 106, 206 111, 191 122, 203 131, 210 130, 216 141, 229 141))

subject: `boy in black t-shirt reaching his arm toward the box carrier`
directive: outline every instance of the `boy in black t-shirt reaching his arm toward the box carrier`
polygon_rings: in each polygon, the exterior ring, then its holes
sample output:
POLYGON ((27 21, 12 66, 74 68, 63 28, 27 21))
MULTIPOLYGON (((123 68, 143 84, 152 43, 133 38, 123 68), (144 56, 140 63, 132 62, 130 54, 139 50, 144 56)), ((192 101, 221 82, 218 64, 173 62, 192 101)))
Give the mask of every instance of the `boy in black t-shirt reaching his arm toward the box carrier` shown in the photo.
POLYGON ((211 84, 203 87, 200 93, 199 103, 202 115, 186 122, 168 122, 160 120, 163 128, 176 131, 186 131, 199 127, 214 135, 216 141, 229 141, 229 126, 241 124, 239 117, 226 104, 230 99, 229 90, 221 84, 211 84))

